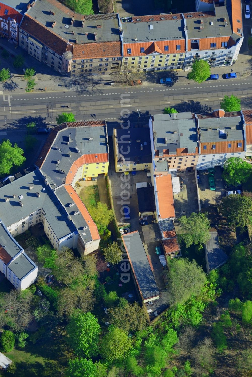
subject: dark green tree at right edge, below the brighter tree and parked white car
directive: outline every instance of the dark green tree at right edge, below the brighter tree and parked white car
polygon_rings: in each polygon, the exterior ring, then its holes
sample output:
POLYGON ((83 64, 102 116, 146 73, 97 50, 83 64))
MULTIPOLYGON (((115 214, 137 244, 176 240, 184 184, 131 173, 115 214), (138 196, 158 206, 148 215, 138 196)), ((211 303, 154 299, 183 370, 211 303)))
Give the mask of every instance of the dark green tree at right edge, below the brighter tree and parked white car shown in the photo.
POLYGON ((232 227, 244 228, 251 222, 252 199, 249 196, 228 195, 221 199, 219 210, 232 227))

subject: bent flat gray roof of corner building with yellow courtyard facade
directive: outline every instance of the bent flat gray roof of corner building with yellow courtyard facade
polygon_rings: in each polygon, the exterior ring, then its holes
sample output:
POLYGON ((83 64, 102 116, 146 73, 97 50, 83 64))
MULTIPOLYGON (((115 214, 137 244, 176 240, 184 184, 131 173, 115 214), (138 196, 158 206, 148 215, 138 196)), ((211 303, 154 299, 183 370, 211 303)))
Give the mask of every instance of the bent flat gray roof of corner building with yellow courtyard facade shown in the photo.
POLYGON ((55 187, 58 187, 65 182, 66 175, 74 161, 82 155, 97 153, 108 153, 106 126, 66 127, 57 133, 40 170, 46 175, 50 184, 56 184, 55 187), (69 143, 68 136, 72 140, 69 143), (75 147, 79 149, 79 152, 75 147))

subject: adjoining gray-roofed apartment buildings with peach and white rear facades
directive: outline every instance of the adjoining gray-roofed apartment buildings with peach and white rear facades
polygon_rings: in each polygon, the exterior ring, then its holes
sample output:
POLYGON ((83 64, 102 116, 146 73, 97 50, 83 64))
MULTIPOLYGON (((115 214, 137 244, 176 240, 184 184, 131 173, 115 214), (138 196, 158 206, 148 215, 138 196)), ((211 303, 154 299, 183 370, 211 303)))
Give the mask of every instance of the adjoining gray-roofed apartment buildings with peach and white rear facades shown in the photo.
POLYGON ((230 157, 244 158, 246 153, 246 123, 242 112, 210 114, 161 114, 150 118, 153 149, 153 173, 208 169, 223 166, 230 157))

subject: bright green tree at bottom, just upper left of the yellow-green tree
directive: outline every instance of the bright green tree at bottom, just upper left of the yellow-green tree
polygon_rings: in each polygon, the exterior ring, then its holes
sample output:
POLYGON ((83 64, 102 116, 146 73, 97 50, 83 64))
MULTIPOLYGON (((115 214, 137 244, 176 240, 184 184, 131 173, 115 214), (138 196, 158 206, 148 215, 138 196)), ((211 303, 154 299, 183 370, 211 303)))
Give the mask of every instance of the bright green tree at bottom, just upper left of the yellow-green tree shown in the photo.
POLYGON ((68 343, 77 356, 96 356, 100 325, 92 313, 78 313, 73 316, 66 326, 66 332, 68 343))

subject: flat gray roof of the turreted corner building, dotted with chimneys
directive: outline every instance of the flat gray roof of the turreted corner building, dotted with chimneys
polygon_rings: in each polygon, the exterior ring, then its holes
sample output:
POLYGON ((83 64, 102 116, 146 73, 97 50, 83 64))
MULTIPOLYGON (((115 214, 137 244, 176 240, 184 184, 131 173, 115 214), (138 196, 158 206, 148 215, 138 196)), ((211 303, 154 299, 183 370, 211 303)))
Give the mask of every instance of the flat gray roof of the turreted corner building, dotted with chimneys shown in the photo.
POLYGON ((78 42, 84 43, 120 40, 119 20, 116 13, 82 15, 74 13, 60 2, 36 0, 35 5, 29 9, 28 15, 68 42, 75 42, 76 38, 78 42), (55 12, 54 15, 51 14, 51 10, 55 12), (74 22, 71 25, 73 15, 74 22), (83 19, 85 21, 82 28, 83 19), (52 28, 54 21, 56 24, 52 28), (97 25, 101 25, 101 28, 97 28, 97 25), (85 35, 86 33, 88 35, 85 35), (97 34, 96 39, 94 33, 97 34))

